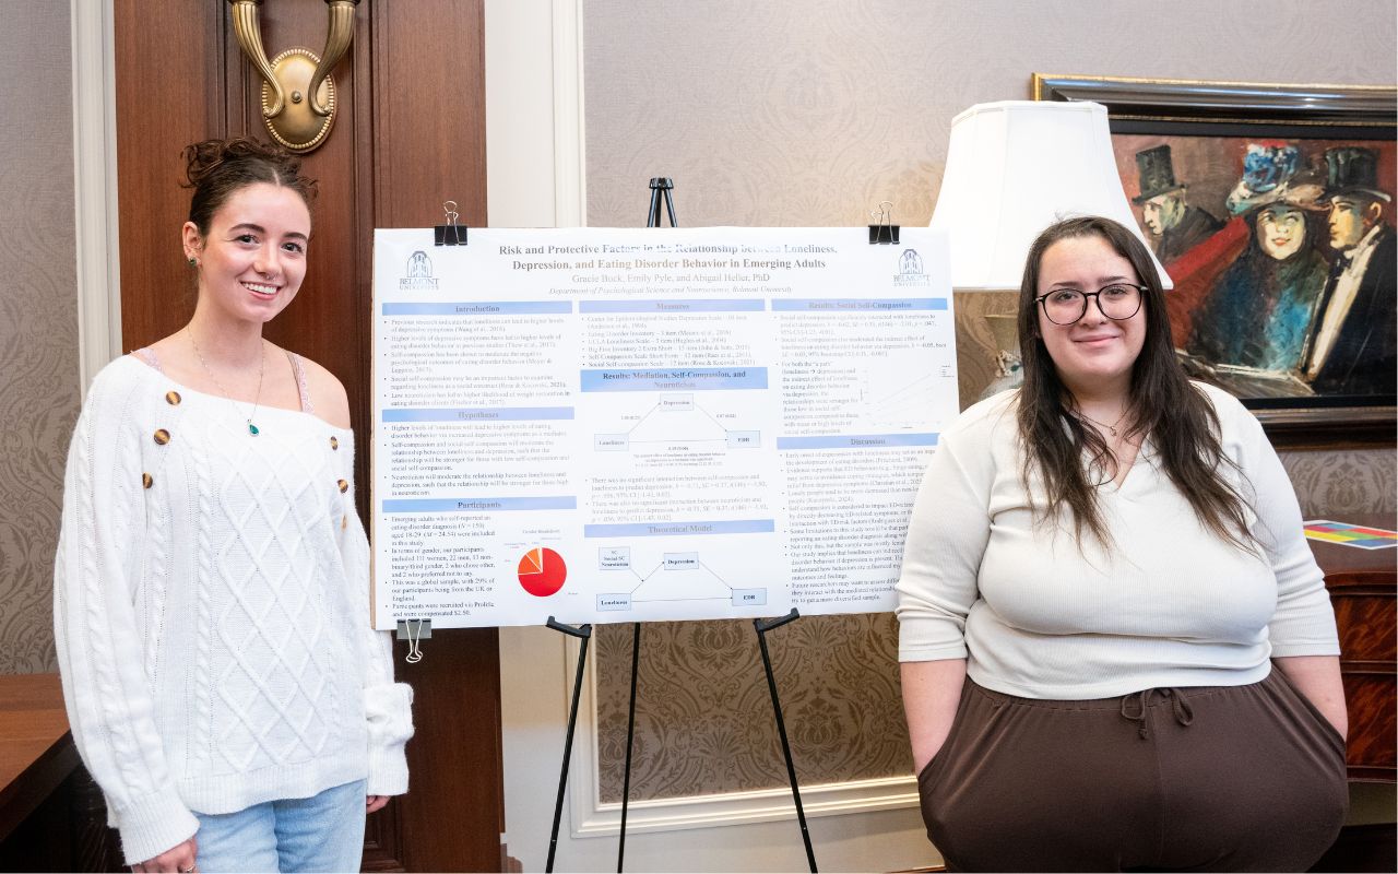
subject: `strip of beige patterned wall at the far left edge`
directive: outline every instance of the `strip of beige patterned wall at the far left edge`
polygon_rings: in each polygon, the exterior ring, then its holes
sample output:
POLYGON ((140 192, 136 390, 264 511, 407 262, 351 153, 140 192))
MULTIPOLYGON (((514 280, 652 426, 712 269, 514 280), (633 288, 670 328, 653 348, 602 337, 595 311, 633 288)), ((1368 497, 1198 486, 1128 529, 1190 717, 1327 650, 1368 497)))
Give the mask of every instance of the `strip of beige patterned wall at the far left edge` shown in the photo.
POLYGON ((78 411, 67 3, 0 28, 0 673, 55 670, 53 551, 78 411))

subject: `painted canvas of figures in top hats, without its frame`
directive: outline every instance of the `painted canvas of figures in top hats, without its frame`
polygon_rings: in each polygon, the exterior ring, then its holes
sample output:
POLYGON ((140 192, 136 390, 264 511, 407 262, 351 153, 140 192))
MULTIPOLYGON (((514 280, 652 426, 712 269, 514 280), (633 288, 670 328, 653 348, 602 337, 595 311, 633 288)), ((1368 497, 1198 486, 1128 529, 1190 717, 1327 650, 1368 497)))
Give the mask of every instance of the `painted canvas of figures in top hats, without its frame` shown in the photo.
POLYGON ((1392 397, 1392 141, 1114 134, 1186 366, 1240 397, 1392 397))

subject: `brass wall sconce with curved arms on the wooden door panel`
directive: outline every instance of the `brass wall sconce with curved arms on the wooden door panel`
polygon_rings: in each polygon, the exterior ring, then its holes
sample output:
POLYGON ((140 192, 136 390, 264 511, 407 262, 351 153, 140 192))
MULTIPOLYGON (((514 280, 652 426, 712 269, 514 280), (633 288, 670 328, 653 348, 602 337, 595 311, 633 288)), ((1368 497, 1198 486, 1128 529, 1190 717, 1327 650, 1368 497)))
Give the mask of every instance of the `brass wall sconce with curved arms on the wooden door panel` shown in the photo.
POLYGON ((233 7, 233 34, 243 55, 263 77, 263 123, 277 143, 294 152, 309 152, 326 141, 336 122, 336 83, 330 78, 354 38, 359 0, 326 0, 330 29, 317 57, 310 49, 287 49, 267 60, 261 45, 257 7, 263 0, 228 0, 233 7))

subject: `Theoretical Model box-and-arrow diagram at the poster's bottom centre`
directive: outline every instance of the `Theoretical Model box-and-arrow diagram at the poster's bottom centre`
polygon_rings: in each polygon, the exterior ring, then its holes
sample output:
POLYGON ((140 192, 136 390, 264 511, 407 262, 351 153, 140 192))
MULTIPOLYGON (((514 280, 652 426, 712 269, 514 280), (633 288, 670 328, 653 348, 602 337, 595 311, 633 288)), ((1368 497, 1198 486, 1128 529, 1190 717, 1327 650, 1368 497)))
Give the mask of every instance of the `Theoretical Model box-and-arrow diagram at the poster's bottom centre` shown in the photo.
POLYGON ((597 596, 598 611, 630 610, 647 601, 728 601, 734 607, 763 607, 768 590, 734 589, 699 558, 699 552, 664 552, 654 566, 632 564, 630 547, 600 547, 601 583, 617 579, 617 590, 597 596))

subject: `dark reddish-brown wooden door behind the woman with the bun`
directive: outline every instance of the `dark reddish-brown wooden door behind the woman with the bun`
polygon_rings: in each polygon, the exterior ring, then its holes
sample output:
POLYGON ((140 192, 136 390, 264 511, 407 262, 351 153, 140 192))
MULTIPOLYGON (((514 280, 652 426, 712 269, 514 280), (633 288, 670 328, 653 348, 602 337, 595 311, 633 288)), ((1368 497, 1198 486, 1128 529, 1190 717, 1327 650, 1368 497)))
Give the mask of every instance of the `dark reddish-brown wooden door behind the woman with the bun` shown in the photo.
MULTIPOLYGON (((260 78, 222 0, 113 0, 122 331, 126 350, 193 312, 179 228, 189 192, 180 150, 206 137, 267 138, 260 78)), ((322 52, 322 0, 266 0, 268 55, 322 52)), ((361 452, 356 501, 368 527, 373 228, 485 225, 482 0, 361 0, 333 76, 340 117, 306 161, 319 179, 306 281, 268 329, 326 365, 350 392, 361 452)), ((401 647, 401 645, 400 645, 401 647)), ((438 632, 398 678, 412 684, 411 791, 369 821, 366 870, 493 871, 503 828, 499 656, 493 629, 438 632)))

